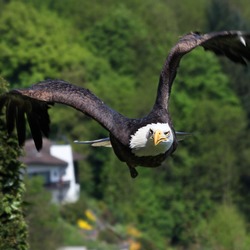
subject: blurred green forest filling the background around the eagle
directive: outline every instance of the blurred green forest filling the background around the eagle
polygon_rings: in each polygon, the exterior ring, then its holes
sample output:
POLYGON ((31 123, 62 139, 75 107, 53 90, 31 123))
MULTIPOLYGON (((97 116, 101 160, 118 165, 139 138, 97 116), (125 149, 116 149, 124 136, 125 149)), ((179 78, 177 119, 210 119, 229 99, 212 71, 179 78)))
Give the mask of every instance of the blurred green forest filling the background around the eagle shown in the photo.
MULTIPOLYGON (((250 31, 248 1, 0 0, 0 92, 63 79, 143 117, 180 36, 225 29, 250 31)), ((250 67, 194 50, 181 61, 170 111, 175 129, 192 136, 132 179, 111 149, 73 144, 106 130, 53 107, 50 139, 84 155, 80 200, 61 206, 39 178, 20 179, 22 150, 1 115, 0 249, 250 249, 250 67)))

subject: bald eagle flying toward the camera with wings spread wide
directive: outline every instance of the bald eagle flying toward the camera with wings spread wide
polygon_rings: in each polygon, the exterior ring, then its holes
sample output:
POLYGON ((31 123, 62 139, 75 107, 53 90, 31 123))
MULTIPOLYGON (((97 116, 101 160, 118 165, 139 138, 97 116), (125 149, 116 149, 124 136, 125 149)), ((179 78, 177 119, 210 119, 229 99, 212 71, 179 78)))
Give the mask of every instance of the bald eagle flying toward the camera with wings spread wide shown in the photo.
POLYGON ((111 109, 88 89, 63 80, 45 80, 27 89, 14 89, 0 97, 0 110, 6 107, 8 134, 16 127, 19 145, 25 142, 27 117, 37 150, 42 137, 49 135, 48 108, 54 103, 71 106, 95 119, 109 131, 109 138, 78 142, 111 144, 117 157, 126 162, 132 177, 136 166, 157 167, 177 147, 177 133, 169 115, 168 102, 179 62, 186 53, 198 46, 246 64, 250 60, 250 33, 221 31, 208 34, 191 32, 184 35, 171 49, 160 73, 156 100, 143 118, 130 119, 111 109))

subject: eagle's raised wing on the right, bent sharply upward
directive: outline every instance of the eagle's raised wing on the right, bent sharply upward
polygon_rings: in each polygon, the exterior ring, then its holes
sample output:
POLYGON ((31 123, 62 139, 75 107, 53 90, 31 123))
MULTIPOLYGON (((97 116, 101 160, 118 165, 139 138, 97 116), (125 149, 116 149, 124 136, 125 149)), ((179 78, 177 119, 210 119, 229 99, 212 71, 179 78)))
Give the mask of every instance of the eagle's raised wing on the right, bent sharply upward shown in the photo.
POLYGON ((171 87, 181 58, 198 46, 213 51, 217 55, 246 64, 250 61, 250 33, 241 31, 221 31, 208 34, 191 32, 183 37, 171 49, 160 74, 155 110, 167 109, 171 87))

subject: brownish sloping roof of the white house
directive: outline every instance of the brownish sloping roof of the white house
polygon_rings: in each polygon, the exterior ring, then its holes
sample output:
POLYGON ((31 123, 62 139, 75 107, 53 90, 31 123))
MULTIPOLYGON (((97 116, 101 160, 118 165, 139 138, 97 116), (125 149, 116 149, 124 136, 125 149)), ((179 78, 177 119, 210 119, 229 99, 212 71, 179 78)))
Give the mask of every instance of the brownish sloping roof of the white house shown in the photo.
POLYGON ((26 165, 67 166, 68 163, 66 161, 50 154, 51 145, 51 141, 43 138, 43 148, 38 152, 34 141, 32 139, 27 140, 24 146, 24 156, 21 156, 19 159, 26 165))

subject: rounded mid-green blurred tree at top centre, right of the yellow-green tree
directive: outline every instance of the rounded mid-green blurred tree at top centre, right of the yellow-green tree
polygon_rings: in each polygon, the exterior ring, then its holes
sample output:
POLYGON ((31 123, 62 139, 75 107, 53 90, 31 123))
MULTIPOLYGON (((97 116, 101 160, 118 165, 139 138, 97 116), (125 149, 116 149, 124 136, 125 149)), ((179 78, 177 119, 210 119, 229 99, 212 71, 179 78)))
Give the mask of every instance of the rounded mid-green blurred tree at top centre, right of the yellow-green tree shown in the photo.
POLYGON ((134 75, 141 68, 137 58, 147 52, 148 46, 145 26, 124 6, 114 8, 111 15, 93 25, 86 39, 95 54, 126 75, 134 75))

